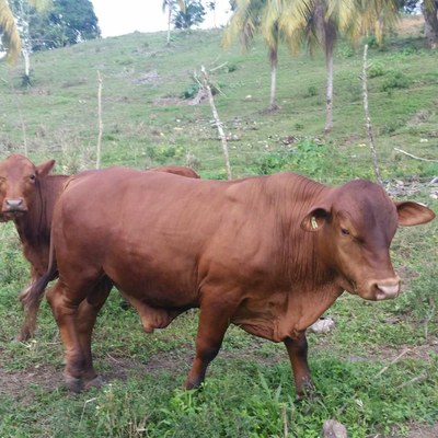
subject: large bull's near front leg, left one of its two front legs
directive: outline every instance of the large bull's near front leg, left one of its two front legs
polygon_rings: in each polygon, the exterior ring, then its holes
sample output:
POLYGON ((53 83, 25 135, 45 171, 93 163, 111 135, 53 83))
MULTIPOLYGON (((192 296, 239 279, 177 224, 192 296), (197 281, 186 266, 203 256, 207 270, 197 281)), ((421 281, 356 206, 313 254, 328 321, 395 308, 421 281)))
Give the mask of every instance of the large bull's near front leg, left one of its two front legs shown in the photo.
POLYGON ((215 291, 211 296, 214 297, 204 296, 200 302, 196 356, 185 381, 185 388, 188 390, 203 383, 207 367, 219 353, 231 316, 239 306, 234 298, 229 298, 220 291, 215 291))

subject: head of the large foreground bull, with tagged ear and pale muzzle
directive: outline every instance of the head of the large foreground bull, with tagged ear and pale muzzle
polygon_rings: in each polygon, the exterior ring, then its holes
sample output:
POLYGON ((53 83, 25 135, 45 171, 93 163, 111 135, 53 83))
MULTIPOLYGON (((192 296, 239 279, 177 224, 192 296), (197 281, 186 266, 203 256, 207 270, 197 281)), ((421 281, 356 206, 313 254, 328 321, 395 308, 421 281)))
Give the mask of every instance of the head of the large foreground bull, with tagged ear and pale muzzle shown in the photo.
POLYGON ((319 257, 339 275, 345 290, 383 300, 400 292, 400 278, 390 258, 396 228, 434 218, 427 207, 394 203, 379 185, 357 180, 333 188, 310 209, 301 228, 315 233, 319 257))

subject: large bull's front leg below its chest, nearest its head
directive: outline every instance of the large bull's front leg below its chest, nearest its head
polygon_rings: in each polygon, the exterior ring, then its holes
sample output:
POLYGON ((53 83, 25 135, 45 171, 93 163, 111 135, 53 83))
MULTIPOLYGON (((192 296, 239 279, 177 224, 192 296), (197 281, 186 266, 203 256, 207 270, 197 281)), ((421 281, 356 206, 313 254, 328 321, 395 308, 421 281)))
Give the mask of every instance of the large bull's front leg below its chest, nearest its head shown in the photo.
POLYGON ((300 333, 296 338, 288 337, 284 342, 292 366, 297 399, 302 399, 312 388, 308 364, 308 339, 306 337, 306 332, 300 333))

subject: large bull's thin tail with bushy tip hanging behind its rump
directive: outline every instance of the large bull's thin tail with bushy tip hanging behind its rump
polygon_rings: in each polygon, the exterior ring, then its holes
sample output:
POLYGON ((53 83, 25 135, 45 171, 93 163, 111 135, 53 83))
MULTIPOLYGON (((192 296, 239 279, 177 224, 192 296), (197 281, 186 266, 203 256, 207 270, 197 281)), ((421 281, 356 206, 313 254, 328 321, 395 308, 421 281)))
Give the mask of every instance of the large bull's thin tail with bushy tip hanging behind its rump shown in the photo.
POLYGON ((28 288, 23 290, 19 296, 19 299, 24 308, 26 320, 36 319, 36 313, 38 312, 39 302, 44 296, 44 291, 46 290, 48 283, 54 280, 57 276, 58 267, 56 264, 56 253, 51 233, 48 266, 46 273, 36 281, 34 281, 28 288))

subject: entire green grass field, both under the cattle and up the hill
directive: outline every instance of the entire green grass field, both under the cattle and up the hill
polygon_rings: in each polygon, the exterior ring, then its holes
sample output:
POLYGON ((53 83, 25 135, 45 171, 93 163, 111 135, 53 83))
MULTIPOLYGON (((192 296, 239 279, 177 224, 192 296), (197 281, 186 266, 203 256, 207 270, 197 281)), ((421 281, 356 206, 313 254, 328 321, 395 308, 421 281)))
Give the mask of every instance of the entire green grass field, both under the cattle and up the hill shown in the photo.
MULTIPOLYGON (((397 199, 438 211, 438 51, 406 19, 369 51, 369 101, 379 164, 397 199), (416 158, 396 151, 408 152, 416 158), (420 158, 422 160, 419 160, 420 158), (434 161, 435 160, 435 161, 434 161)), ((224 51, 220 31, 131 34, 35 54, 33 83, 22 66, 0 65, 0 159, 23 152, 57 159, 57 173, 95 164, 97 71, 103 79, 103 165, 188 164, 203 177, 226 166, 208 103, 191 105, 194 71, 210 73, 229 138, 234 177, 296 171, 327 184, 373 177, 364 128, 361 49, 339 42, 334 129, 324 136, 324 60, 280 51, 278 103, 266 112, 270 72, 261 42, 224 51)), ((142 333, 114 290, 93 339, 105 385, 78 395, 62 385, 62 346, 46 303, 34 339, 11 343, 16 300, 30 269, 11 223, 0 226, 0 437, 319 437, 336 418, 349 437, 438 436, 438 224, 400 229, 394 266, 403 293, 366 302, 345 293, 327 312, 335 328, 310 334, 316 391, 295 402, 283 345, 227 333, 201 390, 182 389, 194 355, 197 311, 142 333)))

